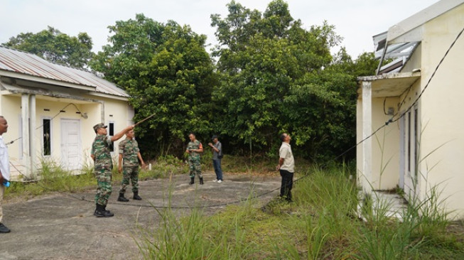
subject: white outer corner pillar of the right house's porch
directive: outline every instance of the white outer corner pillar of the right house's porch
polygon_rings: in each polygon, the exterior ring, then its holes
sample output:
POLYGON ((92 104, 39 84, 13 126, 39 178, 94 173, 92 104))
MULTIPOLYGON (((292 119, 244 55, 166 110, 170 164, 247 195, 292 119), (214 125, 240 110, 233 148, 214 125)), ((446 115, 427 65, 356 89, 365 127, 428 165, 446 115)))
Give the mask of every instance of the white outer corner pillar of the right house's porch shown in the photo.
POLYGON ((372 84, 362 82, 362 190, 372 193, 372 84), (369 138, 368 138, 369 137, 369 138), (368 138, 368 139, 367 139, 368 138))

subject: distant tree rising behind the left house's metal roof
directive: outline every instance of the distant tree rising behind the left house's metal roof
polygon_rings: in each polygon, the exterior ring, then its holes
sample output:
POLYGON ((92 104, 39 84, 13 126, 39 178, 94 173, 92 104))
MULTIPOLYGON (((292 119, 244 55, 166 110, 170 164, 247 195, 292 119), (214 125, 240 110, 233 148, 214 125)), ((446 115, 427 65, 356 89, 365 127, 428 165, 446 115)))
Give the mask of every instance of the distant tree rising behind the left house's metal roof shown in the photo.
POLYGON ((50 60, 53 63, 85 68, 92 58, 92 38, 87 33, 68 36, 53 27, 38 33, 20 33, 3 45, 50 60))

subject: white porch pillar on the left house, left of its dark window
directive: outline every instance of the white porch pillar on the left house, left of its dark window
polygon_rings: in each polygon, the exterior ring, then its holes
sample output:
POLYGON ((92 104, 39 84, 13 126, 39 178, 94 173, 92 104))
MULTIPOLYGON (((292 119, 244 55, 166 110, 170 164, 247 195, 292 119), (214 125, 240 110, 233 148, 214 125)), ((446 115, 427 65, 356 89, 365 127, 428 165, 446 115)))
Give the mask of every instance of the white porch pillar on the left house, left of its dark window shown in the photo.
POLYGON ((26 171, 23 178, 30 180, 31 176, 31 146, 29 144, 29 94, 21 94, 21 120, 23 124, 23 166, 26 171))

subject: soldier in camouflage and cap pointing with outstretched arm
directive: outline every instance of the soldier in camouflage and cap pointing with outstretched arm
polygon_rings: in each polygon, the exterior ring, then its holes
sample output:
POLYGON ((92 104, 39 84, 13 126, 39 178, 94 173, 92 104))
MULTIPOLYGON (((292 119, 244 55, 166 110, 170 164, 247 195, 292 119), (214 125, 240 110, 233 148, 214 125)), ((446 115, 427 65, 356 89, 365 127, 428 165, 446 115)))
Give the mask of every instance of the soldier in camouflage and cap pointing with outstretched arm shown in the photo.
POLYGON ((92 143, 90 156, 95 161, 95 177, 97 178, 97 194, 95 195, 96 209, 94 215, 97 217, 113 217, 114 214, 106 210, 109 195, 112 192, 111 179, 113 161, 109 148, 114 141, 119 140, 124 134, 134 129, 134 126, 127 126, 124 130, 114 136, 107 136, 107 126, 103 123, 96 124, 94 127, 95 140, 92 143))

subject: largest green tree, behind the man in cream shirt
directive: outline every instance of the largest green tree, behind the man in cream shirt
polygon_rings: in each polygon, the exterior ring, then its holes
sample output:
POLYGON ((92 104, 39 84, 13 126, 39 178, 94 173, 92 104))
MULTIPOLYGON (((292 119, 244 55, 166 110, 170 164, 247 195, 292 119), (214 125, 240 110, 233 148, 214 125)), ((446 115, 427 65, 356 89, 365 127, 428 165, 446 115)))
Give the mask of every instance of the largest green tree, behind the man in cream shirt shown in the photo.
POLYGON ((355 141, 356 77, 367 73, 372 56, 353 62, 342 38, 324 22, 305 29, 282 0, 264 13, 231 1, 228 15, 212 15, 219 44, 220 85, 212 99, 223 107, 216 123, 222 134, 254 149, 272 151, 281 131, 310 158, 333 156, 355 141), (364 67, 361 66, 365 65, 364 67))

